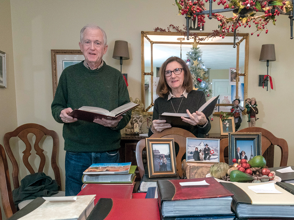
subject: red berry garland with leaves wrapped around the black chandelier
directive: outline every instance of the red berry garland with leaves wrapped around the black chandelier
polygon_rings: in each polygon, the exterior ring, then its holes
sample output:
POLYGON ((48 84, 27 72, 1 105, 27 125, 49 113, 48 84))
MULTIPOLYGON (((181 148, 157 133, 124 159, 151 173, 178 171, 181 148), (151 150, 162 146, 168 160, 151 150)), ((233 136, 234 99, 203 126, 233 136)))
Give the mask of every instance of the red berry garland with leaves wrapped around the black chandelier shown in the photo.
MULTIPOLYGON (((175 1, 180 14, 191 17, 193 21, 197 18, 198 27, 204 26, 205 16, 197 14, 206 10, 203 1, 175 1)), ((205 2, 208 2, 208 0, 205 0, 205 2)), ((293 4, 285 0, 218 0, 217 4, 222 4, 224 9, 234 9, 233 17, 231 18, 227 18, 219 13, 212 13, 212 17, 220 21, 218 28, 220 37, 223 38, 226 34, 234 32, 234 30, 237 30, 241 26, 244 26, 244 28, 248 26, 250 28, 251 24, 255 25, 257 31, 260 31, 260 33, 263 30, 265 30, 265 33, 268 33, 266 25, 269 22, 273 22, 275 25, 275 21, 277 20, 276 16, 279 16, 280 13, 285 14, 293 10, 293 4), (257 12, 263 14, 256 15, 257 12)))

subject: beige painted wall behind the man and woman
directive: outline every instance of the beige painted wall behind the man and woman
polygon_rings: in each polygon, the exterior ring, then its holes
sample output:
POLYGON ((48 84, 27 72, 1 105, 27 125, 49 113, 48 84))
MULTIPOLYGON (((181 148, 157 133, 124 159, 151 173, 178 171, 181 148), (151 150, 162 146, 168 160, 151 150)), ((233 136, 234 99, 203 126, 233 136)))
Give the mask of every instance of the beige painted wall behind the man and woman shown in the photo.
MULTIPOLYGON (((57 131, 60 138, 59 166, 62 169, 64 188, 62 125, 54 121, 50 109, 53 100, 50 50, 79 49, 80 29, 87 23, 96 23, 108 36, 108 52, 103 57, 108 65, 120 68, 119 61, 112 58, 114 42, 128 41, 130 59, 123 61, 123 73, 128 73, 130 96, 141 99, 141 31, 153 31, 156 27, 167 28, 170 24, 183 28, 185 19, 184 16, 177 15, 177 8, 170 0, 120 0, 111 4, 108 1, 11 0, 11 38, 9 1, 2 2, 1 21, 7 22, 0 24, 0 47, 7 54, 9 75, 8 88, 0 89, 1 125, 5 125, 5 128, 0 126, 0 135, 3 136, 6 131, 24 123, 39 123, 57 131), (3 99, 5 100, 2 101, 3 99)), ((258 102, 260 119, 257 126, 286 139, 289 145, 288 164, 294 165, 291 159, 294 156, 294 120, 291 115, 294 104, 290 98, 293 95, 294 40, 289 39, 289 23, 288 16, 280 15, 276 26, 268 25, 268 34, 261 33, 259 37, 256 33, 250 35, 248 97, 255 97, 258 102), (270 62, 269 74, 273 77, 274 84, 274 89, 270 91, 258 87, 258 75, 266 74, 266 62, 259 61, 260 49, 262 44, 267 43, 275 44, 277 57, 276 61, 270 62)), ((216 29, 217 25, 218 21, 207 19, 205 32, 216 29)), ((254 31, 253 28, 241 28, 239 31, 250 33, 254 31)), ((217 130, 217 117, 214 117, 212 124, 217 130)), ((243 122, 241 128, 246 126, 247 123, 243 122)), ((47 151, 50 152, 50 140, 45 140, 44 145, 45 148, 48 146, 47 151)), ((25 175, 26 172, 22 170, 21 176, 25 175)))

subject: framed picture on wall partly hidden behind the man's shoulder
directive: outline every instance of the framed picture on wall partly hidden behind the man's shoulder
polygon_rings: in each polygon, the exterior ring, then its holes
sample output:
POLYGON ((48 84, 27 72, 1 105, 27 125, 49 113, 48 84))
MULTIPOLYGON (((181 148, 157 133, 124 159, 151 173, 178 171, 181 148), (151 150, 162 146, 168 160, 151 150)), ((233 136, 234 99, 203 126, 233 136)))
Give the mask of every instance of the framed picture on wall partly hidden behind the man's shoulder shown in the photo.
POLYGON ((55 96, 59 77, 62 71, 84 60, 81 50, 51 50, 53 98, 55 96))

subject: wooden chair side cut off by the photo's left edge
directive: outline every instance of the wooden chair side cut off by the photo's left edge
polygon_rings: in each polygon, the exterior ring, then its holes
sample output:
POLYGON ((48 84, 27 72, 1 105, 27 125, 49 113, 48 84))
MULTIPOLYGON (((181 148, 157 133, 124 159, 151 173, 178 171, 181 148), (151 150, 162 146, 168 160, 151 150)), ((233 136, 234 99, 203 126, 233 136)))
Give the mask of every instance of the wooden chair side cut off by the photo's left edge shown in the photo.
MULTIPOLYGON (((16 213, 17 210, 12 198, 7 158, 6 158, 5 150, 1 144, 0 144, 0 192, 1 192, 2 206, 3 206, 5 216, 6 218, 9 218, 14 213, 16 213)), ((0 209, 0 216, 2 217, 1 209, 0 209)))

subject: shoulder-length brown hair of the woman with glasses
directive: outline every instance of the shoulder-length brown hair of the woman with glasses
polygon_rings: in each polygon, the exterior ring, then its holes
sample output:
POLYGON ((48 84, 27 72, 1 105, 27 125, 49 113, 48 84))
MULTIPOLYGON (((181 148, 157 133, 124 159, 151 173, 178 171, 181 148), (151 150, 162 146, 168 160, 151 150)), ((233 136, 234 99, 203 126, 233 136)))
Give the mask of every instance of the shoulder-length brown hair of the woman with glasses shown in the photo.
POLYGON ((168 95, 168 93, 171 91, 171 87, 168 86, 167 82, 166 82, 166 78, 165 78, 165 70, 166 70, 166 66, 170 63, 176 61, 179 64, 181 64, 183 71, 184 71, 184 82, 183 82, 183 87, 186 89, 186 92, 191 92, 191 90, 193 89, 194 85, 193 85, 193 79, 191 76, 191 72, 188 68, 188 65, 186 64, 186 62, 184 60, 182 60, 179 57, 169 57, 160 67, 159 69, 159 81, 158 81, 158 85, 157 85, 157 89, 156 89, 156 94, 159 97, 164 97, 166 95, 168 95))

